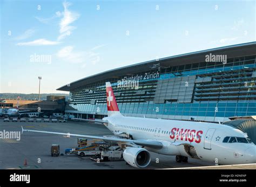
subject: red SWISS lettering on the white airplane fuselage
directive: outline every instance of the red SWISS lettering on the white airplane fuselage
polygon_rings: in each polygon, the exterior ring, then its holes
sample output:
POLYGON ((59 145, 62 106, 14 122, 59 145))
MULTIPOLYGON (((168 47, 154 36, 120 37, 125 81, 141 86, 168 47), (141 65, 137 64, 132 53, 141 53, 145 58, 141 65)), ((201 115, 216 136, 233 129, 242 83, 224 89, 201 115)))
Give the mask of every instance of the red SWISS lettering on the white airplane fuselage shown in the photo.
POLYGON ((179 129, 179 128, 172 128, 171 130, 171 139, 176 140, 183 140, 189 142, 201 142, 201 135, 203 134, 203 130, 191 130, 191 129, 179 129))

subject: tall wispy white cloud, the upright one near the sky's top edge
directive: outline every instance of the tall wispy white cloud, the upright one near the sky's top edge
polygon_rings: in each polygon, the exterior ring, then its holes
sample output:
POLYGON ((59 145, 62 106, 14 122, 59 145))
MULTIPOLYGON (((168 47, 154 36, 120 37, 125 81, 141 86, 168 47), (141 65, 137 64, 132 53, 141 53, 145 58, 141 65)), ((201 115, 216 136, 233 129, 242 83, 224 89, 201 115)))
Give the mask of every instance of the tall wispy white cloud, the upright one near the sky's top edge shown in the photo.
POLYGON ((75 22, 80 15, 76 12, 71 12, 68 8, 72 5, 72 3, 64 2, 64 12, 62 12, 63 18, 60 20, 59 23, 59 37, 58 40, 64 39, 66 36, 69 36, 73 30, 76 29, 75 26, 71 26, 70 24, 75 22))

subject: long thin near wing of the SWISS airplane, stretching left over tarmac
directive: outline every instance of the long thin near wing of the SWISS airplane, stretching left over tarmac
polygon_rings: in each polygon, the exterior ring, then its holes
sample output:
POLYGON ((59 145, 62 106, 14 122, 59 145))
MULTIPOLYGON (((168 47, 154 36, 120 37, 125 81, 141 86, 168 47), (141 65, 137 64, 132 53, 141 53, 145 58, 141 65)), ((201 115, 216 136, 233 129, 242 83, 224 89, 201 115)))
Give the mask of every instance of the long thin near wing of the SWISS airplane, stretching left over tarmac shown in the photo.
POLYGON ((35 132, 35 133, 46 133, 46 134, 57 134, 57 135, 65 135, 65 136, 85 137, 85 138, 98 139, 98 140, 100 139, 100 140, 107 140, 107 141, 113 141, 113 142, 134 143, 139 146, 151 147, 151 148, 156 148, 156 149, 160 149, 163 147, 163 144, 161 142, 149 141, 149 140, 130 140, 130 139, 124 139, 124 138, 89 136, 89 135, 70 134, 70 133, 57 133, 57 132, 51 132, 51 131, 23 129, 23 127, 22 127, 22 133, 23 133, 23 131, 35 132))

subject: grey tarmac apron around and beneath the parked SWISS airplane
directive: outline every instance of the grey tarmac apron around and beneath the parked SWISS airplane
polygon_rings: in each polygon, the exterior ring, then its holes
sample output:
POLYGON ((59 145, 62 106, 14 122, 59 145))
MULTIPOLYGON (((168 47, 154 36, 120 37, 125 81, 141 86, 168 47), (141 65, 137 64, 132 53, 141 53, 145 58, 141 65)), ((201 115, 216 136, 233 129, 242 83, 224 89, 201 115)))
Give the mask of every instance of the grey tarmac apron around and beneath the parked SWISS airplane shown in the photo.
MULTIPOLYGON (((55 131, 60 133, 85 135, 113 135, 105 126, 90 122, 68 121, 53 122, 3 122, 0 119, 0 131, 19 131, 24 129, 55 131)), ((23 132, 21 139, 0 138, 0 169, 136 169, 125 161, 95 162, 89 157, 65 155, 66 148, 77 147, 77 137, 62 135, 23 132), (59 144, 60 154, 51 156, 51 145, 59 144), (26 162, 26 164, 25 164, 26 162), (25 164, 25 165, 24 165, 25 164)), ((151 154, 151 163, 146 169, 192 169, 214 166, 214 163, 188 158, 188 163, 177 163, 175 156, 151 154)), ((256 166, 247 166, 256 169, 256 166)), ((205 169, 210 169, 205 168, 205 169)), ((228 169, 241 169, 230 167, 228 169)))

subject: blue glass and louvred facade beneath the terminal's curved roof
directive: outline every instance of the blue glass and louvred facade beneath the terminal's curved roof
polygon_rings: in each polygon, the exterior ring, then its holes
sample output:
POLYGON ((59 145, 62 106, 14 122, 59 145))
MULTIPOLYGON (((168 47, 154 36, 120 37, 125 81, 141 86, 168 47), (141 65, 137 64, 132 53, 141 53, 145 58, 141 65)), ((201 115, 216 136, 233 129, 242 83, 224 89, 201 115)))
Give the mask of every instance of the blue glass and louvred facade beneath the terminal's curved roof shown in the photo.
POLYGON ((223 122, 231 116, 256 115, 255 56, 159 67, 96 81, 70 90, 66 113, 83 118, 107 115, 106 81, 126 116, 223 122), (138 85, 120 85, 122 79, 138 85))

